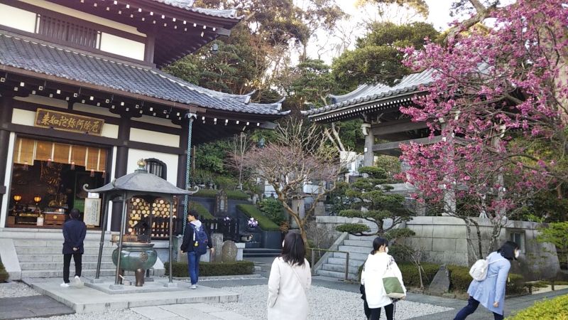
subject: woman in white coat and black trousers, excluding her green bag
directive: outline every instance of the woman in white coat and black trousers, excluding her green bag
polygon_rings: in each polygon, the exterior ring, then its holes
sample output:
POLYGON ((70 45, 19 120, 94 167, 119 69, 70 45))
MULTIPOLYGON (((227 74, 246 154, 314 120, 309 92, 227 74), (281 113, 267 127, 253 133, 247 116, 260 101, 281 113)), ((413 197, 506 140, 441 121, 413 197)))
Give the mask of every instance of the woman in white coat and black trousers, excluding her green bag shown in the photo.
POLYGON ((385 309, 387 320, 393 319, 394 305, 383 287, 383 277, 387 272, 388 276, 398 277, 406 293, 403 274, 400 273, 393 256, 388 255, 388 240, 375 238, 373 250, 368 255, 361 273, 361 284, 365 287, 366 303, 370 311, 367 316, 370 320, 378 320, 381 317, 381 308, 385 309))

